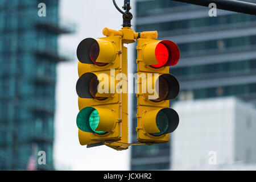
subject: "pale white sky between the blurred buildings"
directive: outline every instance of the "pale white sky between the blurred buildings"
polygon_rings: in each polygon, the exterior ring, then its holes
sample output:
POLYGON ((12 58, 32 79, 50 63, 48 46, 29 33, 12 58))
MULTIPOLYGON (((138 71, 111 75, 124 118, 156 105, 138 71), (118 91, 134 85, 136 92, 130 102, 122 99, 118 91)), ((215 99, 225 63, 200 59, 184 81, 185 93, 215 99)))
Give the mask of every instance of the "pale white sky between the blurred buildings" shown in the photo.
MULTIPOLYGON (((116 0, 121 8, 123 0, 116 0)), ((133 3, 133 0, 131 1, 133 3)), ((134 5, 132 4, 132 7, 134 5)), ((131 11, 134 14, 134 9, 131 11)), ((120 30, 122 14, 112 0, 61 0, 60 17, 76 24, 76 33, 59 38, 59 47, 74 53, 81 40, 103 37, 104 27, 120 30)), ((132 20, 133 24, 134 20, 132 20)), ((129 49, 129 61, 134 45, 129 49)), ((76 94, 77 58, 57 66, 55 143, 53 159, 57 169, 71 170, 129 170, 130 148, 115 151, 107 146, 80 146, 76 115, 79 112, 76 94)), ((130 62, 131 63, 131 62, 130 62)), ((133 61, 135 64, 135 60, 133 61)), ((129 132, 131 133, 131 132, 129 132)))

